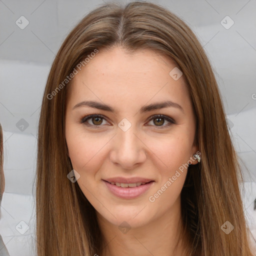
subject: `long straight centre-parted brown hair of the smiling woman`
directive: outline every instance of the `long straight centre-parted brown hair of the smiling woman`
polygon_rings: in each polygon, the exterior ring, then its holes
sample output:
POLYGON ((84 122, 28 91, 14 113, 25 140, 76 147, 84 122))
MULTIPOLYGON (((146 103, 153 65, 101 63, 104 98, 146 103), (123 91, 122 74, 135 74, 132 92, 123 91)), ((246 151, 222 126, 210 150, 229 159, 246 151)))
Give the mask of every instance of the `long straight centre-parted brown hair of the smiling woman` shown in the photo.
POLYGON ((194 144, 202 159, 189 165, 181 191, 188 255, 252 256, 239 191, 241 167, 209 60, 182 19, 162 6, 142 1, 125 6, 106 3, 89 12, 67 35, 52 63, 38 125, 38 256, 102 252, 103 237, 95 209, 77 182, 66 177, 72 170, 64 125, 67 87, 71 84, 65 87, 63 81, 87 54, 114 46, 130 54, 150 49, 167 56, 186 81, 196 116, 194 144), (227 220, 234 226, 229 234, 220 228, 227 220))

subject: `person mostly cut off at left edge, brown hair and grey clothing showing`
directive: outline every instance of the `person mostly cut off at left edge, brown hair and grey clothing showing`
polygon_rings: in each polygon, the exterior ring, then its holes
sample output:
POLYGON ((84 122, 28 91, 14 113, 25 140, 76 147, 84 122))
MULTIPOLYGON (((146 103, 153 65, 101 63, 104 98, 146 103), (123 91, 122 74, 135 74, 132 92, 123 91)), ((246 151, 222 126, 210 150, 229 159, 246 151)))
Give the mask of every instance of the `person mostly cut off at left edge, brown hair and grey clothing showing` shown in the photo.
MULTIPOLYGON (((4 191, 3 138, 2 138, 2 126, 0 124, 0 205, 1 205, 3 191, 4 191)), ((1 215, 1 212, 0 212, 0 215, 1 215)), ((1 256, 9 256, 9 253, 3 243, 1 235, 0 235, 0 255, 1 256)))

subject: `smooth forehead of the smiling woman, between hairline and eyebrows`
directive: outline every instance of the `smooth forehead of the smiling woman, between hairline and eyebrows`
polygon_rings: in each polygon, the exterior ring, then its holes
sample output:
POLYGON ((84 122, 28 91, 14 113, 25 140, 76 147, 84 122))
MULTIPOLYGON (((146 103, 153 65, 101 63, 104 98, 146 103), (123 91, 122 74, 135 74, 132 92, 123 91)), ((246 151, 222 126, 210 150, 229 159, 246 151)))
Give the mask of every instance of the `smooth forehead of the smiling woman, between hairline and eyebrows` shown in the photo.
POLYGON ((69 101, 93 98, 132 107, 172 100, 185 107, 189 101, 186 84, 182 75, 172 78, 173 68, 177 68, 174 61, 150 49, 132 54, 120 47, 99 50, 73 77, 69 101))

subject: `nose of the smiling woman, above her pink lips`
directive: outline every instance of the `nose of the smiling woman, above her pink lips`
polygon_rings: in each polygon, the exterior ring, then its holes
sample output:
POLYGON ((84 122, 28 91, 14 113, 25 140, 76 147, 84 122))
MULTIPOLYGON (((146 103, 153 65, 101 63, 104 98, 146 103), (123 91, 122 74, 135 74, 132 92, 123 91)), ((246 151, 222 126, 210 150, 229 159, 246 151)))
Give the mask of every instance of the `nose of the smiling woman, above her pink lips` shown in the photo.
POLYGON ((126 130, 117 129, 112 140, 110 160, 122 169, 134 169, 146 159, 146 145, 133 125, 126 130))

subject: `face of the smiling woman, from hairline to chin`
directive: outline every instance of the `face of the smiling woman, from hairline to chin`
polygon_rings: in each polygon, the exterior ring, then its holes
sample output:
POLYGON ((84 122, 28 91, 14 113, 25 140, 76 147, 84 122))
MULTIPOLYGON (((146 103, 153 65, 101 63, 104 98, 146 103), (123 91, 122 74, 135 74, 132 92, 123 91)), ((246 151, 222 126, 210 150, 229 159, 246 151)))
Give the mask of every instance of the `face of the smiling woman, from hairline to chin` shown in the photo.
POLYGON ((114 47, 72 79, 68 154, 79 187, 108 223, 139 227, 180 210, 182 164, 197 163, 197 148, 192 104, 183 77, 169 74, 174 67, 154 51, 114 47))

